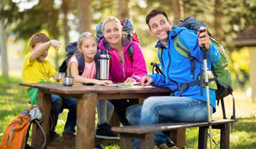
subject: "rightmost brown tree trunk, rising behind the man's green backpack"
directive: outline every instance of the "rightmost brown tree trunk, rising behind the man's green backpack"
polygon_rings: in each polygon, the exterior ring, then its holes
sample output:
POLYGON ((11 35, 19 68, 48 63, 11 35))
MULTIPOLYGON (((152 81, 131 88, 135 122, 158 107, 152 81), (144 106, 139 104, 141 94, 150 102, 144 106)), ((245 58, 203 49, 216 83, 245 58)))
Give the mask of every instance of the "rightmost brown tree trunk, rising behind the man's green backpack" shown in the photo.
POLYGON ((223 37, 223 31, 221 29, 221 20, 222 20, 222 10, 221 10, 221 0, 215 0, 215 37, 218 39, 218 42, 221 43, 223 37))

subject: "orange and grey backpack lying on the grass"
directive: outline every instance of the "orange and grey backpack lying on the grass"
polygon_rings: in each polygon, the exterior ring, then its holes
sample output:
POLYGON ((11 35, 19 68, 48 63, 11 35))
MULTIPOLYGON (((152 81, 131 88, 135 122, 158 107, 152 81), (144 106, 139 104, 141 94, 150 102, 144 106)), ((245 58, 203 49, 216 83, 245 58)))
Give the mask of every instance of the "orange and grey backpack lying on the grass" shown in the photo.
POLYGON ((18 117, 12 120, 6 127, 0 148, 1 149, 31 149, 27 142, 29 137, 29 130, 32 123, 36 123, 44 134, 44 144, 42 149, 46 145, 46 135, 43 128, 39 123, 43 121, 41 111, 36 105, 32 105, 29 110, 25 109, 20 112, 18 117))

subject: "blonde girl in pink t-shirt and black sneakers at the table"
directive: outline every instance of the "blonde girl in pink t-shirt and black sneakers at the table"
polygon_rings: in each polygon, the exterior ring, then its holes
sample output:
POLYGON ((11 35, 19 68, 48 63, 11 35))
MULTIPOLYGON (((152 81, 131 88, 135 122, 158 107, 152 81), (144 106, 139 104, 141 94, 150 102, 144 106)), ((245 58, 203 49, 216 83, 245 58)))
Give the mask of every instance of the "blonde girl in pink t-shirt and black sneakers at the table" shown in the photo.
MULTIPOLYGON (((75 77, 75 83, 90 82, 96 85, 113 85, 112 81, 109 80, 97 80, 99 52, 97 52, 97 39, 95 36, 89 32, 82 33, 78 39, 77 48, 78 50, 70 58, 68 63, 68 76, 75 77), (85 67, 80 76, 78 62, 80 62, 81 58, 84 58, 85 67)), ((95 137, 119 140, 119 137, 110 130, 107 123, 113 113, 113 105, 107 102, 107 100, 97 100, 96 108, 98 124, 95 137)))

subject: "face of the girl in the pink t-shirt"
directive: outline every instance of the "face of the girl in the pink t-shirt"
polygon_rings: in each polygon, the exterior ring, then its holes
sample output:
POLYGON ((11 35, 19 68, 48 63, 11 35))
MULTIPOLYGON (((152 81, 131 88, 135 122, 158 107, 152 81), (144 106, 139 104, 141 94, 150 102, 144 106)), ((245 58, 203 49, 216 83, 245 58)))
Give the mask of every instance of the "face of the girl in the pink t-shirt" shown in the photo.
POLYGON ((86 63, 91 63, 97 52, 97 43, 93 38, 84 39, 78 50, 83 53, 86 63))

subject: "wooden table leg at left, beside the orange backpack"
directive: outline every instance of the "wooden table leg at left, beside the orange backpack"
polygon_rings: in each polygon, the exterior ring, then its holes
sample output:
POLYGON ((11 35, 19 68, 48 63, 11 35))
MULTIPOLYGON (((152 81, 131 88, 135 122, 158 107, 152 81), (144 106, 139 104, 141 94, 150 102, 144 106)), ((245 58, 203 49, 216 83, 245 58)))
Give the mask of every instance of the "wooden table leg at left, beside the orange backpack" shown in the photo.
MULTIPOLYGON (((49 143, 49 131, 50 131, 50 111, 51 111, 51 95, 38 92, 37 94, 37 106, 43 113, 43 121, 41 127, 46 134, 46 145, 49 143)), ((41 148, 40 144, 44 143, 44 135, 39 127, 36 127, 35 148, 41 148)))

